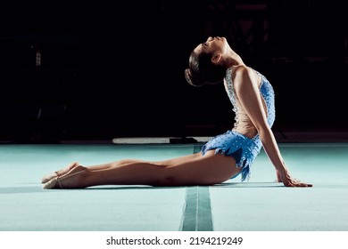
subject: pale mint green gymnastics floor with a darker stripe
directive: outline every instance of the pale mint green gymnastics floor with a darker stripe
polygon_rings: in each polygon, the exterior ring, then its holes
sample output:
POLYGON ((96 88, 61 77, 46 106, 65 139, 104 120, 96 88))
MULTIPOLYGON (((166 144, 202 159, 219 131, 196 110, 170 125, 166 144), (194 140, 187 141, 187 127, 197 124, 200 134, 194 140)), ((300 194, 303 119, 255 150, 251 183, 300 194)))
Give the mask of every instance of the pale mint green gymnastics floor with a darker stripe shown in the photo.
POLYGON ((161 160, 192 154, 199 145, 1 145, 2 231, 346 231, 348 144, 280 144, 295 178, 313 188, 275 183, 263 151, 249 182, 212 187, 96 186, 42 189, 40 179, 79 161, 161 160))

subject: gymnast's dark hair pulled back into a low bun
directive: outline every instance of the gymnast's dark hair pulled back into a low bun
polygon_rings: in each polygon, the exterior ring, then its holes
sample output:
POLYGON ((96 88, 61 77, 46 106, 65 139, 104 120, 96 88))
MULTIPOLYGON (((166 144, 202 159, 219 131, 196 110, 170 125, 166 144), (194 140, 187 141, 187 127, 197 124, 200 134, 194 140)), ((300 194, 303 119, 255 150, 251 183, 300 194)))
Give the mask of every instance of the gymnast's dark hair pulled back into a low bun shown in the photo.
POLYGON ((226 68, 212 63, 211 56, 212 53, 191 52, 188 68, 185 69, 185 78, 188 84, 202 86, 223 81, 226 68))

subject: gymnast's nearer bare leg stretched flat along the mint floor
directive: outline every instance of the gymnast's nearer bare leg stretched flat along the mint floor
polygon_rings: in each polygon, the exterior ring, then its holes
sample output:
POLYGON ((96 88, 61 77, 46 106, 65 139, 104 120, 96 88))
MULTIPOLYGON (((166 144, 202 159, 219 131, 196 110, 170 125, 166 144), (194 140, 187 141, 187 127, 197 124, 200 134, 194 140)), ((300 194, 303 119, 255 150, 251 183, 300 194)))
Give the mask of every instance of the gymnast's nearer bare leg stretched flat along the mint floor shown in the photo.
MULTIPOLYGON (((62 176, 62 188, 137 184, 152 186, 211 185, 227 181, 240 172, 233 157, 215 155, 213 150, 204 156, 196 153, 158 162, 128 159, 83 168, 85 170, 71 177, 62 176)), ((59 188, 59 186, 56 187, 59 188)))

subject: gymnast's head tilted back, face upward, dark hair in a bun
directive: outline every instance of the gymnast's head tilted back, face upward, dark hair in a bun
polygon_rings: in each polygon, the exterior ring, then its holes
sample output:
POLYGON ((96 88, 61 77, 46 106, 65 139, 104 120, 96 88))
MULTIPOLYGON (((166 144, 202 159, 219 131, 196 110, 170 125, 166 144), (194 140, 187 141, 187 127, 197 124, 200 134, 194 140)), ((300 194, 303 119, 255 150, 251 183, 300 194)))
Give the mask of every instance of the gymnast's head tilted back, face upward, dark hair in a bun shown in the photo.
POLYGON ((199 44, 191 52, 188 68, 185 69, 185 78, 189 84, 202 86, 223 81, 226 68, 216 60, 216 52, 221 49, 221 40, 220 37, 209 37, 205 43, 199 44))

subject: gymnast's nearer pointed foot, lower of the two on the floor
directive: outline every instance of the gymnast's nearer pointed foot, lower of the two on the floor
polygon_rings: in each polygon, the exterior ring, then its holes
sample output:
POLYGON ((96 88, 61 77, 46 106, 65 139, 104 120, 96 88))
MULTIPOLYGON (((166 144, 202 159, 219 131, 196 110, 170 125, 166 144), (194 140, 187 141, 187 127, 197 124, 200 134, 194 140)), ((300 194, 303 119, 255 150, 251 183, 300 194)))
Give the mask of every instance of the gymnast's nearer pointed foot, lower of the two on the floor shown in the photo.
POLYGON ((43 189, 83 189, 84 187, 81 187, 79 184, 79 177, 82 176, 82 173, 86 173, 86 171, 86 167, 81 165, 72 167, 68 173, 56 176, 50 181, 47 181, 43 189))

